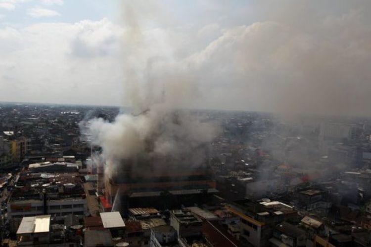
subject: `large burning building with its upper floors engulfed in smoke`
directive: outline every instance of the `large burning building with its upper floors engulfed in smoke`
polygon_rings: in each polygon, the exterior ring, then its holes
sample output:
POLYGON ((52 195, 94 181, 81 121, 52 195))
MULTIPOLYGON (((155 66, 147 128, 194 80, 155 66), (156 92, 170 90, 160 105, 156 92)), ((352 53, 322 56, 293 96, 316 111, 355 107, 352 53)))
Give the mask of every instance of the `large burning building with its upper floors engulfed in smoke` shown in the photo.
POLYGON ((102 148, 104 160, 106 211, 126 215, 128 207, 192 206, 217 192, 208 164, 213 126, 158 108, 92 123, 93 144, 102 148))

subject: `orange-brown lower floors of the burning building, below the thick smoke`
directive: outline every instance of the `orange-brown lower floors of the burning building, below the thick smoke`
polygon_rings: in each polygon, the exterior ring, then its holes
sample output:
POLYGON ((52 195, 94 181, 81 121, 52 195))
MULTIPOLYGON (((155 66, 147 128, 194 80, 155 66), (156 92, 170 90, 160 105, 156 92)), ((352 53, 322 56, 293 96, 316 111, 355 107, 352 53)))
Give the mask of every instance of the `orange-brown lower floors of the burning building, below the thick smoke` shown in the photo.
POLYGON ((218 192, 207 165, 195 168, 176 162, 140 159, 119 165, 114 177, 104 176, 107 202, 127 215, 129 207, 179 208, 205 203, 218 192))

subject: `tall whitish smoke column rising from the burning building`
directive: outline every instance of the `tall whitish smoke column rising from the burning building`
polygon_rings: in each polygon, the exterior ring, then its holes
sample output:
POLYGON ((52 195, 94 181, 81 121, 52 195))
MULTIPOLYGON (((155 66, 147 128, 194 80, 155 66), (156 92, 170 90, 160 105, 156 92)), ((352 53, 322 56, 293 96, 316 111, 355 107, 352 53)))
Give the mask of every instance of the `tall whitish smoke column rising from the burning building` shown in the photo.
POLYGON ((144 38, 146 18, 140 13, 148 6, 155 8, 152 1, 123 4, 123 89, 133 112, 118 115, 113 123, 93 119, 89 125, 92 144, 102 148, 108 177, 120 170, 121 161, 137 158, 186 158, 184 165, 196 167, 205 158, 199 147, 217 131, 215 125, 181 110, 199 96, 197 78, 181 69, 166 41, 144 38), (162 42, 163 49, 151 50, 155 42, 162 42))

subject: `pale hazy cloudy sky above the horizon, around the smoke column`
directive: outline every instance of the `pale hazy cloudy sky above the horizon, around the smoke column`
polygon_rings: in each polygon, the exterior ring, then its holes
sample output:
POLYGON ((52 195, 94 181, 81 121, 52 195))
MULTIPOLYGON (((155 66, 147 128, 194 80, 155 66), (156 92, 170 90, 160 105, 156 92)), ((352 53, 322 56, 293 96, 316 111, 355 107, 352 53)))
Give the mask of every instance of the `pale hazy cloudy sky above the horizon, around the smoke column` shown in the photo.
POLYGON ((128 104, 133 61, 157 80, 181 68, 186 107, 371 114, 370 0, 147 0, 140 51, 126 2, 0 0, 0 101, 128 104))

